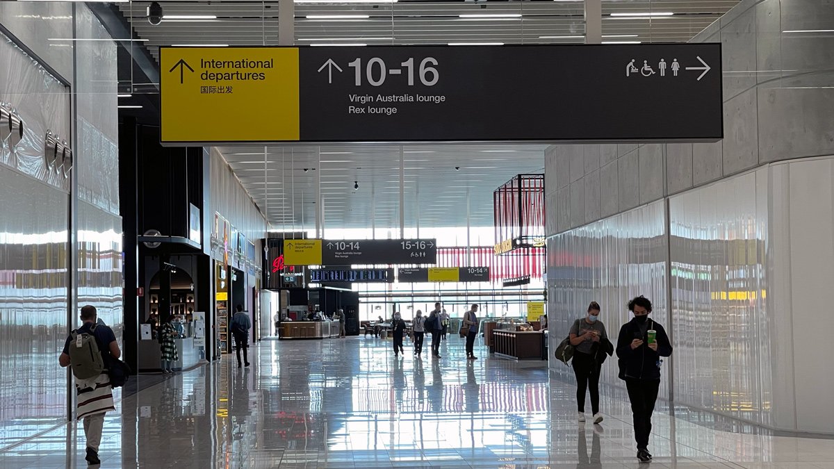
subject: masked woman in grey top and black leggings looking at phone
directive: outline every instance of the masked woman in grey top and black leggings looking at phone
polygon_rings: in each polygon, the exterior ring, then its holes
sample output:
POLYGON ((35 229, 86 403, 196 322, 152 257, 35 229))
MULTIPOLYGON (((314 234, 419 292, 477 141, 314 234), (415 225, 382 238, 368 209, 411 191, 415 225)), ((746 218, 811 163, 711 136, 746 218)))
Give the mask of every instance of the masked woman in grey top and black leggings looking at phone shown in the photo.
POLYGON ((570 345, 574 346, 571 363, 576 374, 576 406, 579 408, 579 421, 585 421, 585 394, 590 391, 590 408, 594 423, 602 421, 600 414, 600 362, 596 352, 601 340, 607 340, 605 325, 599 320, 600 305, 591 301, 588 314, 574 321, 570 327, 570 345))

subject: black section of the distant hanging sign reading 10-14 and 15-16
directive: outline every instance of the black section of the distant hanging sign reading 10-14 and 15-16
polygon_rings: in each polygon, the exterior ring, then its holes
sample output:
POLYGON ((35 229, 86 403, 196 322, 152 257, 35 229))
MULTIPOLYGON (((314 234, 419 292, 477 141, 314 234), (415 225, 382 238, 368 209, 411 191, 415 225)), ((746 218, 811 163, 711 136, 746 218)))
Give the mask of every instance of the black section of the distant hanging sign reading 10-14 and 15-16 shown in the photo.
POLYGON ((435 264, 436 240, 322 240, 323 265, 435 264))

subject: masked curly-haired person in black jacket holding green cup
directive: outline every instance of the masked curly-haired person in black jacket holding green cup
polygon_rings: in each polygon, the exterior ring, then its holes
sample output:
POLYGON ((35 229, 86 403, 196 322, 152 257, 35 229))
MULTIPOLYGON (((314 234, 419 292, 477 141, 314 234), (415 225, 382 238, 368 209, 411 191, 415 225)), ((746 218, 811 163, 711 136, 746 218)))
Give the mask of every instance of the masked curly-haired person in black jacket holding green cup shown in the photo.
POLYGON ((661 386, 661 356, 671 356, 672 345, 663 326, 649 319, 650 300, 638 296, 629 301, 628 309, 634 313, 634 319, 620 328, 617 339, 620 379, 625 380, 634 415, 637 459, 649 462, 651 414, 661 386))

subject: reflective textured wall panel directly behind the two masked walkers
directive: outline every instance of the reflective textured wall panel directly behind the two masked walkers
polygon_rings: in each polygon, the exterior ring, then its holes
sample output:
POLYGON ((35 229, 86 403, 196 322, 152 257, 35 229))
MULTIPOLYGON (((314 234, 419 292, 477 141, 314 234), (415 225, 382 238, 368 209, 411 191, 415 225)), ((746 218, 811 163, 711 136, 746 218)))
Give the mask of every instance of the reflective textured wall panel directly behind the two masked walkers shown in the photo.
MULTIPOLYGON (((602 307, 600 320, 616 341, 620 326, 631 320, 631 298, 645 295, 654 317, 671 329, 666 308, 666 237, 664 204, 656 202, 548 239, 547 285, 550 347, 555 350, 570 325, 586 314, 590 301, 602 307)), ((573 371, 551 360, 557 376, 573 379, 573 371)), ((667 371, 666 368, 664 371, 667 371)), ((601 382, 621 386, 614 360, 606 361, 601 382)), ((661 395, 667 395, 667 380, 661 395)))

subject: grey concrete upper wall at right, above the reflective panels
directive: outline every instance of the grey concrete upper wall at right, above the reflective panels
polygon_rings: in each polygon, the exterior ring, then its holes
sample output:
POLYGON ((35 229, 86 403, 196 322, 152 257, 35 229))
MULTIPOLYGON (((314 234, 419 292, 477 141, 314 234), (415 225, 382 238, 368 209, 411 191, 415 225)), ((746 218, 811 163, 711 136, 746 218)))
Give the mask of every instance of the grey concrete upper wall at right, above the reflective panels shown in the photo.
POLYGON ((774 161, 834 154, 834 29, 826 0, 745 0, 693 42, 721 43, 724 139, 553 145, 548 233, 774 161))

